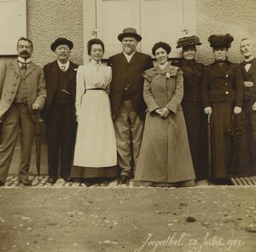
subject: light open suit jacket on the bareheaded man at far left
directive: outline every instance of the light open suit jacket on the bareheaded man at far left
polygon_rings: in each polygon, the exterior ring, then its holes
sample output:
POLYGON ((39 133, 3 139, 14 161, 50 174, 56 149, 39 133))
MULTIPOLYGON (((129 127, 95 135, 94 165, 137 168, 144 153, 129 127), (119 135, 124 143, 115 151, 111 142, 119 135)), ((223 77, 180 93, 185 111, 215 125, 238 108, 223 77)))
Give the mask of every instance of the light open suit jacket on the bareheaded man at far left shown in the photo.
MULTIPOLYGON (((3 63, 0 66, 0 118, 9 110, 9 107, 15 100, 20 78, 20 66, 17 60, 3 63)), ((37 103, 43 108, 45 96, 43 69, 30 62, 26 69, 26 100, 30 116, 34 122, 37 122, 38 112, 32 109, 32 105, 37 103)))

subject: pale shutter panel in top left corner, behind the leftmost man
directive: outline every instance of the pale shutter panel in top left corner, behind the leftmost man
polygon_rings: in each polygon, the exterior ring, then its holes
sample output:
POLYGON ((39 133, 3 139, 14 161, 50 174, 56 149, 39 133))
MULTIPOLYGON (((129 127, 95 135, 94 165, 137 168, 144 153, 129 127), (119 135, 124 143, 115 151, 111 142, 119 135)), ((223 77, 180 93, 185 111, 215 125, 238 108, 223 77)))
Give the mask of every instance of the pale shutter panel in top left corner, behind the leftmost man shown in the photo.
POLYGON ((0 54, 17 54, 16 44, 26 37, 26 0, 0 0, 0 54))

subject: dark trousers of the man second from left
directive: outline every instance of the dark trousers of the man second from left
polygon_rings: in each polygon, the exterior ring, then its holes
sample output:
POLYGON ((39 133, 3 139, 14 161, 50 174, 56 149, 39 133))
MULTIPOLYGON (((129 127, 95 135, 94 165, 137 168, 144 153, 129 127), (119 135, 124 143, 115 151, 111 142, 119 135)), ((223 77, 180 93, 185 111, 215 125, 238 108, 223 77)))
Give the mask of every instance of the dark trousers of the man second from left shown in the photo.
POLYGON ((48 146, 48 175, 58 176, 59 159, 62 178, 70 175, 75 142, 75 117, 73 104, 52 104, 46 118, 48 146))

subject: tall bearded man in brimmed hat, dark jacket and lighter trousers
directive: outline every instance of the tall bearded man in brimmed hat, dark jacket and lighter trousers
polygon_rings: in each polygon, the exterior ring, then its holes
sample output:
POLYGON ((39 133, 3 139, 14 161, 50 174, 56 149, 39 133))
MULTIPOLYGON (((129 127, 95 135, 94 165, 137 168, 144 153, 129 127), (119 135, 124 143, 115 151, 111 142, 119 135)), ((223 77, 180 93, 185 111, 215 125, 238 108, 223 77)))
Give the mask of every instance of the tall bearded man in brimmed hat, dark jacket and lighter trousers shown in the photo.
POLYGON ((143 138, 146 105, 143 100, 143 72, 153 67, 151 57, 136 51, 142 37, 136 29, 126 28, 118 36, 123 52, 108 60, 112 67, 110 102, 121 170, 118 184, 127 184, 131 163, 137 163, 143 138))

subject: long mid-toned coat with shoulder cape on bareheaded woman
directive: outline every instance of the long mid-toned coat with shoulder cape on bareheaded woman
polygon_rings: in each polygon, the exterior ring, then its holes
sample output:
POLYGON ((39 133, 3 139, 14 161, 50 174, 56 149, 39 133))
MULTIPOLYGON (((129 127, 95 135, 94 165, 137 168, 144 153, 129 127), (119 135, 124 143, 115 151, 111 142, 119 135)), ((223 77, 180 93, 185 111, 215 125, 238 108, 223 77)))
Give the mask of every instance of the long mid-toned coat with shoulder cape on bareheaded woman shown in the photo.
POLYGON ((154 67, 144 73, 144 99, 148 106, 143 142, 137 161, 135 180, 172 183, 194 180, 189 141, 183 117, 182 71, 176 66, 164 70, 154 67), (166 72, 171 77, 166 77, 166 72), (162 119, 154 111, 168 108, 162 119))

